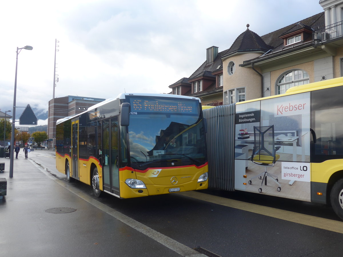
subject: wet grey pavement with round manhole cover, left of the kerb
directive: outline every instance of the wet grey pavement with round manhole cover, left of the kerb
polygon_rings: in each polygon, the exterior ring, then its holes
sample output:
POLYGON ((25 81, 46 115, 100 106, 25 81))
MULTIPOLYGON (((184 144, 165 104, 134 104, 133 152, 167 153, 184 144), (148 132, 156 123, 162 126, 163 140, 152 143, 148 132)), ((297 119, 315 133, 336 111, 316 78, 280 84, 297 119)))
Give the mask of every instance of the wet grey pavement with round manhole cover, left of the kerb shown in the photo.
POLYGON ((0 178, 7 180, 7 196, 0 199, 0 256, 196 256, 190 248, 178 254, 133 229, 115 217, 121 213, 73 192, 78 189, 30 159, 14 158, 13 178, 10 159, 0 162, 0 178))

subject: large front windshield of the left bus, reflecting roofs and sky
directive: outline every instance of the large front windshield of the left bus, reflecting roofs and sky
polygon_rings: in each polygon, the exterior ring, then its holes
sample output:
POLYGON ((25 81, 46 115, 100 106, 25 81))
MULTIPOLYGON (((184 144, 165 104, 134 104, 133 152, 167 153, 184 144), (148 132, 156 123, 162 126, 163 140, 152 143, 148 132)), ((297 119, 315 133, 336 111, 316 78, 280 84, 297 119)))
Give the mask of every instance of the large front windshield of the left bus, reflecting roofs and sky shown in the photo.
POLYGON ((198 111, 131 112, 128 132, 133 168, 145 170, 205 163, 203 122, 198 111))

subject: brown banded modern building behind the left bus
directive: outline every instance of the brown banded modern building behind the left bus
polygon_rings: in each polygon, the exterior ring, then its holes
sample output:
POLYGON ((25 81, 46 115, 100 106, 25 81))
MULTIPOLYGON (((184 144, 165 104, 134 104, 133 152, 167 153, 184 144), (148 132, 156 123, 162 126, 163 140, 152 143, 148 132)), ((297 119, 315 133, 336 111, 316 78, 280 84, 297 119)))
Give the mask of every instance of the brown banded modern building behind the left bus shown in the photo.
POLYGON ((88 109, 104 98, 91 98, 81 96, 64 96, 51 99, 48 110, 48 148, 54 146, 56 137, 56 121, 65 117, 74 116, 88 109), (52 139, 52 140, 51 140, 52 139))

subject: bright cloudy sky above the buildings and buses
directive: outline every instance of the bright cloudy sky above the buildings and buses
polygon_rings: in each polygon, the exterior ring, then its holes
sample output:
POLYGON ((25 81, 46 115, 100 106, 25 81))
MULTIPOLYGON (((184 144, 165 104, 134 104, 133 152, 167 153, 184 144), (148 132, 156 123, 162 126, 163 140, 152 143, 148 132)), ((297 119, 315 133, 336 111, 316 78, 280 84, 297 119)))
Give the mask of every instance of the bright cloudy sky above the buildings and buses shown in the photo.
MULTIPOLYGON (((38 118, 55 97, 169 93, 206 59, 249 29, 262 36, 322 12, 319 0, 16 0, 0 9, 0 109, 29 104, 38 118)), ((24 108, 16 109, 19 119, 24 108)), ((11 114, 11 113, 9 113, 11 114)), ((39 120, 38 125, 47 124, 39 120)))

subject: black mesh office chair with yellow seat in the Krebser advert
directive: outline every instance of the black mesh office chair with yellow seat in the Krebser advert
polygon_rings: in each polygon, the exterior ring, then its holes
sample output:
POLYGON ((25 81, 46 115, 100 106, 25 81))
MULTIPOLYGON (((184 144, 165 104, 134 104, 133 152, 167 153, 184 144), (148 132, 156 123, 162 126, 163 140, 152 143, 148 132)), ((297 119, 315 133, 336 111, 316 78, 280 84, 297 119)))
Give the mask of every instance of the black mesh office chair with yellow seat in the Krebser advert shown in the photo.
POLYGON ((281 184, 277 179, 277 176, 267 172, 267 167, 273 167, 275 161, 280 158, 280 155, 276 154, 276 151, 280 149, 280 146, 275 147, 274 142, 274 125, 271 126, 254 126, 254 147, 252 149, 251 161, 252 163, 264 166, 264 172, 261 172, 257 176, 252 177, 248 183, 251 185, 251 180, 255 178, 262 179, 261 187, 258 192, 262 192, 262 184, 267 185, 267 177, 270 177, 279 187, 277 191, 281 191, 281 184), (262 178, 263 176, 263 178, 262 178))

